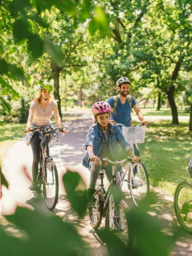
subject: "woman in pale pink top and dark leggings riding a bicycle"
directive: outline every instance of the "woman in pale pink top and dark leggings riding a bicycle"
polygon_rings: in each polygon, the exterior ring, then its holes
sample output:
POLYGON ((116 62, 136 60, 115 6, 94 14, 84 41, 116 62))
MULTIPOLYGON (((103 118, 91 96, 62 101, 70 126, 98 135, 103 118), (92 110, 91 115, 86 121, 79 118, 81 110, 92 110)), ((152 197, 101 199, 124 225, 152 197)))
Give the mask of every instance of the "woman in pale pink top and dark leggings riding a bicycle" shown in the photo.
MULTIPOLYGON (((44 82, 42 85, 38 86, 39 94, 35 97, 29 108, 29 116, 27 120, 27 143, 30 144, 33 151, 33 163, 32 163, 32 176, 33 182, 29 186, 29 189, 36 189, 36 180, 38 173, 38 163, 40 161, 40 145, 41 150, 45 150, 45 136, 41 131, 30 132, 30 129, 41 127, 44 131, 52 131, 54 128, 51 125, 50 118, 52 117, 52 111, 55 116, 55 121, 59 128, 63 127, 61 118, 58 113, 57 102, 51 96, 51 91, 53 87, 49 82, 44 82)), ((66 133, 66 131, 61 131, 66 133)), ((56 133, 49 135, 48 141, 50 142, 56 133)))

